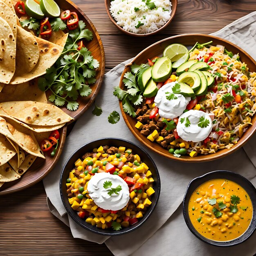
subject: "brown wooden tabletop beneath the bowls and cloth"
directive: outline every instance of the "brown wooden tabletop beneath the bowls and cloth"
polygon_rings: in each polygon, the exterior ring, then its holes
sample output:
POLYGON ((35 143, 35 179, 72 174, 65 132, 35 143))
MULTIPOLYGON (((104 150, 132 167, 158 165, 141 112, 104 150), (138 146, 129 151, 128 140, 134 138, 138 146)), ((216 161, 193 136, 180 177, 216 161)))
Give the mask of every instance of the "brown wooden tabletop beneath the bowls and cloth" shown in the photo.
MULTIPOLYGON (((124 35, 110 22, 103 0, 74 0, 94 23, 106 54, 106 72, 163 38, 186 33, 210 34, 256 10, 255 0, 178 0, 171 24, 146 38, 124 35)), ((50 213, 43 182, 0 196, 0 255, 113 255, 105 245, 74 239, 50 213)))

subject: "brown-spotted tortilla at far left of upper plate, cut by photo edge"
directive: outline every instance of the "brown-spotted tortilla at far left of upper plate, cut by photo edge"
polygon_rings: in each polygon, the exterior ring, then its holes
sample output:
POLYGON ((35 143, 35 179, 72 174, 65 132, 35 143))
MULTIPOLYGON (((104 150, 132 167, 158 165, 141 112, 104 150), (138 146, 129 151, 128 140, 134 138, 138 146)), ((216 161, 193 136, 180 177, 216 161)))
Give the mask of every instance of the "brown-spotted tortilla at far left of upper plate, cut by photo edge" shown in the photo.
POLYGON ((0 83, 9 83, 15 72, 16 40, 11 27, 0 17, 0 83))

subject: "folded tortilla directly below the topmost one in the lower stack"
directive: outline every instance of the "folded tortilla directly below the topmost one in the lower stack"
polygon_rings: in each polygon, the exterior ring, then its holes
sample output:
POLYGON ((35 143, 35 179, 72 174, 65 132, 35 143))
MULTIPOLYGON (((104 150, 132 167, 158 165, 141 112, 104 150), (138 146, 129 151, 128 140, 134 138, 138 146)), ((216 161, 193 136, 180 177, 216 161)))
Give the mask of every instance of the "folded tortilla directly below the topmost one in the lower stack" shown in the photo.
POLYGON ((17 143, 27 153, 45 159, 34 133, 11 119, 6 120, 0 117, 0 133, 17 143))

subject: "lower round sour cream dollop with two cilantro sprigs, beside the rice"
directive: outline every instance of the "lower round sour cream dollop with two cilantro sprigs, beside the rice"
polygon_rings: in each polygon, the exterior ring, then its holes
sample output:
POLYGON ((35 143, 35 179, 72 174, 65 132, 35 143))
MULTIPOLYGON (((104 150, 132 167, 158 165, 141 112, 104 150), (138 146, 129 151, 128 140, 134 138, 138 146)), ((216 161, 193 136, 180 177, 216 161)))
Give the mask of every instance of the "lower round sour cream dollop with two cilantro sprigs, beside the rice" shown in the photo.
POLYGON ((209 136, 212 127, 213 124, 211 117, 207 113, 191 109, 179 117, 179 121, 177 124, 177 133, 185 141, 198 142, 206 139, 209 136), (209 125, 207 127, 201 128, 198 126, 198 124, 200 123, 200 117, 204 117, 205 120, 209 120, 209 125), (188 127, 186 127, 187 118, 190 122, 190 125, 187 125, 188 127))

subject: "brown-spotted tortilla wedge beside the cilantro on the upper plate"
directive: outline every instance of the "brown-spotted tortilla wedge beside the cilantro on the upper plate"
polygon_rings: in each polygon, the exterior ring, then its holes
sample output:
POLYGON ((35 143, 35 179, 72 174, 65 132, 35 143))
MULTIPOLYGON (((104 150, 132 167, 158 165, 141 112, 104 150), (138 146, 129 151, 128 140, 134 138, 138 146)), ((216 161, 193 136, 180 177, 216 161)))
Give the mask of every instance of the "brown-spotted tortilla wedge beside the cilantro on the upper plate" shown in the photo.
MULTIPOLYGON (((68 34, 65 35, 65 39, 63 38, 63 40, 67 40, 67 36, 68 34)), ((11 84, 25 83, 38 76, 42 76, 46 73, 47 68, 54 65, 63 51, 63 46, 53 44, 36 36, 34 36, 34 38, 36 39, 39 47, 38 62, 34 69, 30 72, 24 73, 17 69, 13 78, 11 79, 11 84)))

